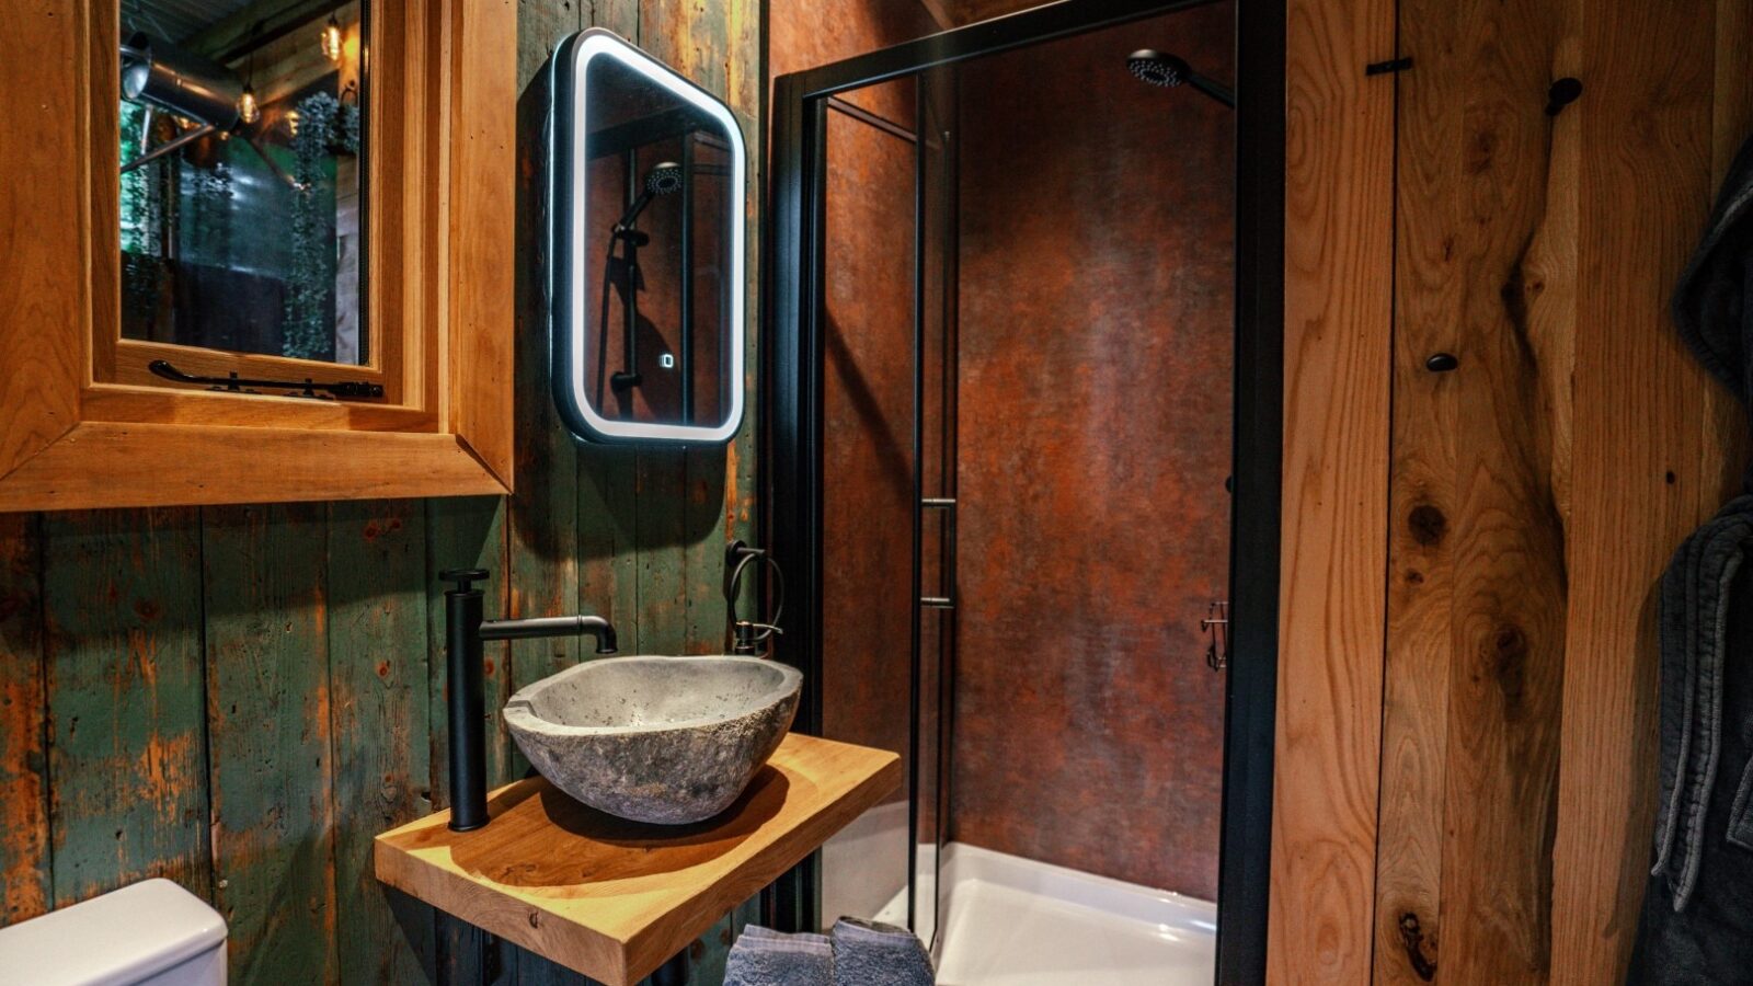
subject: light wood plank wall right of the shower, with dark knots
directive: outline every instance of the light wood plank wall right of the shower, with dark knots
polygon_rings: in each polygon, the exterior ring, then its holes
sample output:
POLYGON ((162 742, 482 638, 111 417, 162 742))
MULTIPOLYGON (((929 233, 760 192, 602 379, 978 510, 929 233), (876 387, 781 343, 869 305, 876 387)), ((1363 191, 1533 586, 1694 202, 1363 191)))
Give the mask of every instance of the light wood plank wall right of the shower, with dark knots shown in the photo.
POLYGON ((1667 297, 1753 137, 1753 0, 1288 16, 1271 981, 1616 982, 1653 589, 1744 461, 1667 297))

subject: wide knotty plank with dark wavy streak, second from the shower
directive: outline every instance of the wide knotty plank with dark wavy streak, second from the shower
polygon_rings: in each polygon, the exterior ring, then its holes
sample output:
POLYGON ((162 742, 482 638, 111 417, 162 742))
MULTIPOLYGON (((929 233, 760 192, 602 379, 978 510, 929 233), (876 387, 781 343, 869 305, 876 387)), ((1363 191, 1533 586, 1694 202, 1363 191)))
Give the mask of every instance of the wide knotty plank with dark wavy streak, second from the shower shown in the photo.
MULTIPOLYGON (((1376 981, 1544 981, 1574 230, 1546 189, 1565 5, 1401 7, 1394 530, 1376 981), (1551 288, 1548 291, 1548 288, 1551 288), (1425 360, 1453 353, 1458 368, 1425 360), (1450 914, 1455 916, 1450 921, 1450 914), (1437 940, 1441 939, 1441 949, 1437 940)), ((1572 161, 1574 163, 1574 161, 1572 161)), ((1574 207, 1574 200, 1569 202, 1574 207)))

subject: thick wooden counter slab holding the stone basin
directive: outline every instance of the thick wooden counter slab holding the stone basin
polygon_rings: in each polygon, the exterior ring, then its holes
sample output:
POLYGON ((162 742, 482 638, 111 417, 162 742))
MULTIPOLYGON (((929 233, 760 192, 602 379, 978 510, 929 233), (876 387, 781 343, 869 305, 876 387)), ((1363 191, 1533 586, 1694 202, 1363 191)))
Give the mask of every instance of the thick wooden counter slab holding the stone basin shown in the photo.
POLYGON ((901 786, 894 753, 787 735, 722 816, 622 821, 542 777, 377 837, 377 879, 608 986, 633 986, 901 786))

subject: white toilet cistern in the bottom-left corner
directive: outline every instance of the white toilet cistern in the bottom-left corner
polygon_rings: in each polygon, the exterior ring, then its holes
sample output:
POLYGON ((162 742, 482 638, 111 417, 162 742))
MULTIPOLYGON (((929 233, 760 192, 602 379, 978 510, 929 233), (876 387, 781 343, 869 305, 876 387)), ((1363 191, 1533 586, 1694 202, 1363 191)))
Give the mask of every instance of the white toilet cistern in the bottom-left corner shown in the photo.
POLYGON ((137 982, 224 946, 224 918, 167 879, 149 879, 0 928, 16 982, 137 982))

